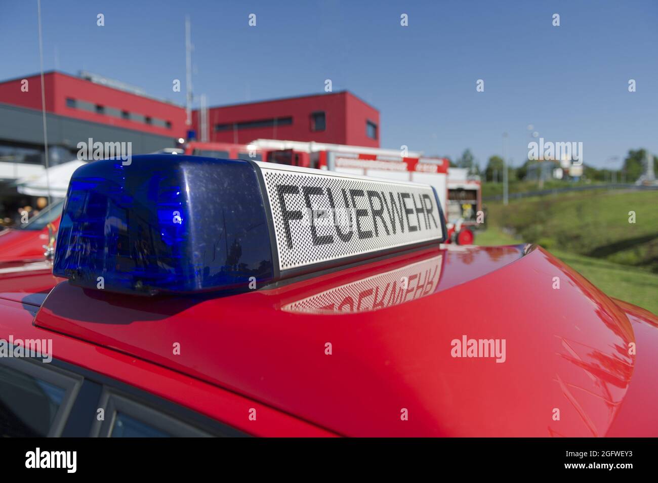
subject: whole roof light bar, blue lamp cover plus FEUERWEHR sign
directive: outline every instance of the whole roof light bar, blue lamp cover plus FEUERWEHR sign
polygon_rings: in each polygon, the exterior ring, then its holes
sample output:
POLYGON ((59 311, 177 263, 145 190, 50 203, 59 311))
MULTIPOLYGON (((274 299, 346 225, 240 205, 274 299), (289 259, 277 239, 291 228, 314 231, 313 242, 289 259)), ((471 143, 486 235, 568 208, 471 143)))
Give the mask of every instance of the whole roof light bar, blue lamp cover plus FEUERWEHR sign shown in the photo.
POLYGON ((130 294, 249 290, 444 237, 428 185, 149 154, 74 172, 53 273, 130 294))

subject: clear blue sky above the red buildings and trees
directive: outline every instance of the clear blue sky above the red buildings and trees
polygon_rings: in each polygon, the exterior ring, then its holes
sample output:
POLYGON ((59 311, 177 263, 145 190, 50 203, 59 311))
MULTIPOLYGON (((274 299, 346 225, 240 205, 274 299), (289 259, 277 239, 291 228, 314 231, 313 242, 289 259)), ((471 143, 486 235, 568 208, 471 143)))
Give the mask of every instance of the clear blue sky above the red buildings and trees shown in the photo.
MULTIPOLYGON (((453 159, 469 147, 484 167, 507 131, 519 165, 533 124, 547 141, 582 141, 584 162, 594 166, 628 149, 658 153, 655 0, 42 5, 46 70, 97 72, 180 104, 184 92, 171 86, 185 79, 190 14, 194 91, 211 105, 318 93, 329 78, 334 91, 380 110, 382 147, 453 159), (98 13, 105 27, 96 26, 98 13), (561 26, 551 25, 553 13, 561 26), (637 92, 628 92, 629 79, 637 92)), ((36 0, 2 0, 0 78, 38 70, 36 0)))

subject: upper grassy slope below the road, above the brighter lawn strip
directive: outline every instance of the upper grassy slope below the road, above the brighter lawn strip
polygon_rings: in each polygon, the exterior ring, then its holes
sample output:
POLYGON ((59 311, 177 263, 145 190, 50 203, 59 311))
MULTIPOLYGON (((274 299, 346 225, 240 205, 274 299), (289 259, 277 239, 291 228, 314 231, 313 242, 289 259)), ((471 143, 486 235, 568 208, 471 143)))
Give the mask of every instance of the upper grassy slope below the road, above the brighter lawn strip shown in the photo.
POLYGON ((522 241, 658 273, 658 191, 561 193, 486 208, 490 226, 522 241))

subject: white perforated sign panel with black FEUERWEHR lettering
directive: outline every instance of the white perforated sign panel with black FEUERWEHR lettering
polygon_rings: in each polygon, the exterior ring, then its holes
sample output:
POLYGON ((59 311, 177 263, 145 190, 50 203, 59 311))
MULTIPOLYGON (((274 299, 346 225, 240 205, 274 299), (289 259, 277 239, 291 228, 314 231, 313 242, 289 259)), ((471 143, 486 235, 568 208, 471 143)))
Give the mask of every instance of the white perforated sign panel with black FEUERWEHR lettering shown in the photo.
POLYGON ((443 239, 428 185, 257 164, 280 271, 443 239))

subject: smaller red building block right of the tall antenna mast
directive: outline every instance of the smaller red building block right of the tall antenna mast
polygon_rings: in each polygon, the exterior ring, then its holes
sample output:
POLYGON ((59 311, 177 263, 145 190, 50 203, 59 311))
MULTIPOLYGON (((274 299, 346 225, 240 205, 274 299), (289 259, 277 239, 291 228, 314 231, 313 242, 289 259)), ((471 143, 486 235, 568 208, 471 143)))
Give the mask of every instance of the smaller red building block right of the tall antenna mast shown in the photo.
MULTIPOLYGON (((200 117, 195 110, 197 139, 203 139, 200 117)), ((285 139, 379 147, 379 111, 347 91, 211 107, 207 129, 216 143, 285 139)))

